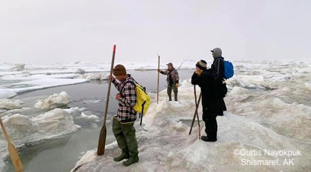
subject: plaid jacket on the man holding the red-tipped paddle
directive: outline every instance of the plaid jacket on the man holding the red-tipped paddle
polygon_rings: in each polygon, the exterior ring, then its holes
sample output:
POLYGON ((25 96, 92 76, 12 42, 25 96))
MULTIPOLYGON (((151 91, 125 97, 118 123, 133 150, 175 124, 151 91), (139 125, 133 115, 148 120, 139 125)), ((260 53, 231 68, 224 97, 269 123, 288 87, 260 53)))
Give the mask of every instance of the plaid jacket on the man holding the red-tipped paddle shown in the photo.
POLYGON ((117 112, 118 120, 121 122, 135 121, 137 112, 133 109, 136 104, 134 79, 128 74, 127 78, 122 80, 122 82, 114 79, 112 83, 122 96, 117 112))

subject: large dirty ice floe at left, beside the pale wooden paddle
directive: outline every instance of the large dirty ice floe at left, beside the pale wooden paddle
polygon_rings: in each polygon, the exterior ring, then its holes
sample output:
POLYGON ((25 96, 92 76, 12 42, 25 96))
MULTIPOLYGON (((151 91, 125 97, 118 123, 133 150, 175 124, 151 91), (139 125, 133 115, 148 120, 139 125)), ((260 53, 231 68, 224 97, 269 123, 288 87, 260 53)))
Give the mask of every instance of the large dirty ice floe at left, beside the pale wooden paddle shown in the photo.
MULTIPOLYGON (((26 117, 21 114, 2 117, 4 126, 11 141, 17 149, 26 146, 38 145, 48 139, 63 137, 76 132, 80 126, 73 123, 69 112, 54 109, 37 117, 26 117)), ((3 160, 8 157, 7 144, 2 130, 0 132, 0 171, 3 169, 3 160)))

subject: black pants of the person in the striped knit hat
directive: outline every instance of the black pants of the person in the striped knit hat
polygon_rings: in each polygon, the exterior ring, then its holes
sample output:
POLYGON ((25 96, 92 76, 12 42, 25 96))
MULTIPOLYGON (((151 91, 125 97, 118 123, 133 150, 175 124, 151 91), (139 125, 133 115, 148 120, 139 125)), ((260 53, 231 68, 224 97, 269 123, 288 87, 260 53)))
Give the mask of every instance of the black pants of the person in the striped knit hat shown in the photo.
POLYGON ((205 122, 205 132, 211 139, 217 138, 217 106, 214 105, 203 105, 202 119, 205 122))

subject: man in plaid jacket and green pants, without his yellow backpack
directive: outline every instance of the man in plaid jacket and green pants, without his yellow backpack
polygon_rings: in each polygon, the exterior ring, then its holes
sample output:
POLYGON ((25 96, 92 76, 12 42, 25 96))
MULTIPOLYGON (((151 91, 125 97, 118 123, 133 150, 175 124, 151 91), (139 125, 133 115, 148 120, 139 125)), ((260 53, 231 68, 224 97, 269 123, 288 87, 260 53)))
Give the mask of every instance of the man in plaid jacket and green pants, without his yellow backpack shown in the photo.
POLYGON ((122 164, 129 166, 139 160, 136 130, 134 128, 137 112, 133 109, 136 104, 136 85, 123 65, 116 65, 113 69, 113 75, 115 78, 110 78, 110 80, 119 93, 115 95, 115 99, 118 100, 118 112, 113 117, 112 131, 119 148, 122 150, 121 155, 113 158, 113 160, 120 162, 128 159, 122 164))

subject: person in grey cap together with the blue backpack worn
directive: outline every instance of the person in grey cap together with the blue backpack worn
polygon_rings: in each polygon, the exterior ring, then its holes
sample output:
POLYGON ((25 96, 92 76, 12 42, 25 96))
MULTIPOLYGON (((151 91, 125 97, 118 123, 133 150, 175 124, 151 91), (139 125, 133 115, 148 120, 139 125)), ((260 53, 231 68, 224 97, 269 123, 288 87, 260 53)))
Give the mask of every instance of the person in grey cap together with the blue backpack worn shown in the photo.
POLYGON ((215 48, 211 50, 214 62, 211 66, 211 73, 214 76, 215 85, 218 87, 218 95, 219 98, 217 101, 217 115, 223 116, 223 111, 227 110, 225 106, 225 101, 223 98, 225 94, 227 94, 228 89, 225 84, 225 79, 231 78, 233 76, 233 66, 230 62, 225 61, 225 59, 221 56, 222 51, 219 48, 215 48), (230 65, 231 64, 231 65, 230 65))

